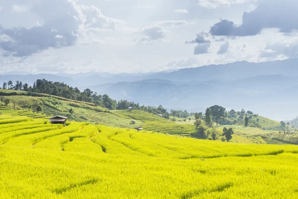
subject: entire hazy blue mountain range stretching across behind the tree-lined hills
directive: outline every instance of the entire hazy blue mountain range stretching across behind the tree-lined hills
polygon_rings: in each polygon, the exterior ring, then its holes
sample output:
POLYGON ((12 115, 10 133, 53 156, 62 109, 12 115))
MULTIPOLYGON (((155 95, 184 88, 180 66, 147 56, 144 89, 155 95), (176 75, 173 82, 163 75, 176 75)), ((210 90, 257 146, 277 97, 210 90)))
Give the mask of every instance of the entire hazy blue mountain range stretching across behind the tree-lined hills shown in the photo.
POLYGON ((64 82, 80 90, 91 89, 116 100, 164 105, 168 109, 204 111, 219 104, 250 109, 273 119, 296 117, 298 59, 249 63, 235 62, 158 73, 58 73, 55 75, 0 75, 0 83, 36 79, 64 82), (285 111, 285 110, 291 111, 285 111))

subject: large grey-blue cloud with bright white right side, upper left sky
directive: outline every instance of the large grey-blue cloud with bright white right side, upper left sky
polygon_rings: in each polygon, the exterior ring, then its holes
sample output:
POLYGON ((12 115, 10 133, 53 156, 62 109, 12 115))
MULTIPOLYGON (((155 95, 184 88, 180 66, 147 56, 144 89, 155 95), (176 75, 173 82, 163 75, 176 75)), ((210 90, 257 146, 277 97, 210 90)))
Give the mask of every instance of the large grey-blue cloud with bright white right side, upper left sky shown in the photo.
MULTIPOLYGON (((15 11, 21 11, 20 7, 15 11)), ((32 28, 0 26, 0 48, 3 56, 29 56, 48 48, 72 46, 90 28, 114 29, 122 21, 104 16, 97 7, 78 5, 76 0, 44 0, 32 4, 30 11, 38 14, 43 25, 32 28), (53 14, 55 13, 55 14, 53 14), (0 37, 1 38, 1 37, 0 37)))

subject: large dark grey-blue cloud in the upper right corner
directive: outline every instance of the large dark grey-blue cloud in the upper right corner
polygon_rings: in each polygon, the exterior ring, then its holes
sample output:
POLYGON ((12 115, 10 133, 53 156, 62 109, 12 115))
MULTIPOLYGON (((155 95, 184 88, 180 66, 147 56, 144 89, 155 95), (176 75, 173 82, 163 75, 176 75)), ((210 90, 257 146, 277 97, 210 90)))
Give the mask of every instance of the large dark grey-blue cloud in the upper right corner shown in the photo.
POLYGON ((250 36, 259 34, 265 28, 279 28, 280 32, 298 29, 297 0, 263 0, 251 12, 244 12, 242 24, 221 20, 214 24, 210 33, 218 36, 250 36))

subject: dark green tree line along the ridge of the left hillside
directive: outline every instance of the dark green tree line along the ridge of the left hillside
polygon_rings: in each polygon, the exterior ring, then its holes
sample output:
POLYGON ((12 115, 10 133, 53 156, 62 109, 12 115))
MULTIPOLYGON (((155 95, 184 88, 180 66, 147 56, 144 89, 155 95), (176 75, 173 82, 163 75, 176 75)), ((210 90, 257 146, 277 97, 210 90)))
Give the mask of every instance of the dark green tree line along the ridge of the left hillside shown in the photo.
POLYGON ((166 119, 169 119, 170 116, 182 118, 186 118, 189 116, 189 113, 186 110, 171 110, 171 112, 169 113, 167 109, 165 109, 162 105, 155 107, 140 105, 139 103, 127 100, 116 101, 111 99, 108 95, 98 95, 96 92, 93 92, 90 89, 85 89, 81 92, 77 87, 73 88, 64 83, 47 81, 45 79, 36 80, 33 83, 33 86, 29 86, 27 83, 23 84, 20 81, 16 81, 15 84, 13 84, 12 81, 8 81, 7 83, 3 83, 2 89, 48 94, 70 100, 91 102, 110 110, 125 110, 129 107, 133 107, 137 110, 143 110, 152 114, 158 114, 166 119))

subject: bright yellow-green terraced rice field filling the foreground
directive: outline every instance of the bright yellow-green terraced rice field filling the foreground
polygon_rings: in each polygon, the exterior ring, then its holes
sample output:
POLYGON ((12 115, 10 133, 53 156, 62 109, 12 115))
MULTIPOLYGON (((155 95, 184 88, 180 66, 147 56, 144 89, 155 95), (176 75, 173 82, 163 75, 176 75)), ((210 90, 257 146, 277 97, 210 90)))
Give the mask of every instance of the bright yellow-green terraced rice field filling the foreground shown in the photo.
POLYGON ((0 115, 0 198, 295 199, 298 146, 0 115), (27 119, 25 119, 27 118, 27 119))

